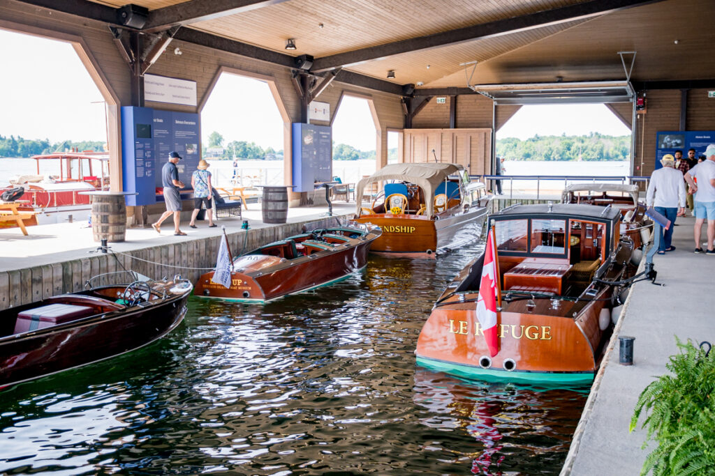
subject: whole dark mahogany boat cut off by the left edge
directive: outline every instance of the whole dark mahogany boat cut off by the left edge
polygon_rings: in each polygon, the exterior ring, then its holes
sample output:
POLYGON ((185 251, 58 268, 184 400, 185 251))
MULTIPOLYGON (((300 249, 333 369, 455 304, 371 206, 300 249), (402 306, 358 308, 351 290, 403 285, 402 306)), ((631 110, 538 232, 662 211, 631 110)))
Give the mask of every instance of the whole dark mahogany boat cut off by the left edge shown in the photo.
POLYGON ((0 386, 112 358, 181 323, 192 285, 134 281, 52 296, 0 311, 0 386))

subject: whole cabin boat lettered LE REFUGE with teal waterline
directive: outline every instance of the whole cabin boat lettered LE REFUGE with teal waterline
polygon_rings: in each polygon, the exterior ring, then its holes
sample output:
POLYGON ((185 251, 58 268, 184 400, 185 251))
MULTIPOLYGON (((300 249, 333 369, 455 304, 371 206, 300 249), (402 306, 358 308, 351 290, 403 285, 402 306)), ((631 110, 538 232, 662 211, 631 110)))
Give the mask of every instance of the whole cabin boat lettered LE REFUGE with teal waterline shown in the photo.
POLYGON ((618 208, 576 204, 516 205, 490 216, 502 299, 498 353, 491 357, 476 318, 482 253, 435 303, 418 364, 465 378, 590 383, 611 309, 636 270, 620 224, 618 208))

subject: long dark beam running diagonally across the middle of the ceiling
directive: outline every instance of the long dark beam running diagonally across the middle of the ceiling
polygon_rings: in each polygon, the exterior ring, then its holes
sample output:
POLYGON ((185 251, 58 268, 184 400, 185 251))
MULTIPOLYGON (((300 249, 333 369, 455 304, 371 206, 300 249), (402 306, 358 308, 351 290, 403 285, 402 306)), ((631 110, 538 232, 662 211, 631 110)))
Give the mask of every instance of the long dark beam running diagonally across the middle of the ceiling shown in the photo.
POLYGON ((464 41, 474 41, 478 39, 493 38, 507 34, 517 33, 561 24, 566 21, 587 19, 591 16, 608 14, 613 11, 658 3, 664 0, 591 0, 581 4, 563 6, 558 9, 538 11, 535 14, 515 16, 509 19, 490 21, 489 23, 466 26, 465 28, 440 31, 439 33, 418 36, 417 38, 394 41, 393 43, 379 46, 369 46, 368 48, 346 51, 345 53, 334 54, 317 58, 313 62, 311 71, 326 71, 338 67, 361 64, 365 61, 408 53, 410 51, 420 51, 425 49, 438 48, 451 44, 458 44, 464 41))

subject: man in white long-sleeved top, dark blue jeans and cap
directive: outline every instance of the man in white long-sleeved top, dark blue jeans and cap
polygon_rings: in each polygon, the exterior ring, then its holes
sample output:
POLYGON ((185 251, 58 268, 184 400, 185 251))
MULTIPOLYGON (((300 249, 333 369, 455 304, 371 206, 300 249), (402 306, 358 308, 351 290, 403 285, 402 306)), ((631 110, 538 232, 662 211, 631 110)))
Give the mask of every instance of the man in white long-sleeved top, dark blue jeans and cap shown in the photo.
MULTIPOLYGON (((673 228, 676 217, 685 213, 685 182, 683 174, 676 170, 675 160, 670 154, 661 158, 663 168, 659 168, 651 175, 646 193, 646 206, 654 207, 655 211, 668 218, 671 225, 661 236, 658 254, 663 255, 666 251, 672 251, 673 228)), ((661 230, 661 233, 663 231, 661 230)))

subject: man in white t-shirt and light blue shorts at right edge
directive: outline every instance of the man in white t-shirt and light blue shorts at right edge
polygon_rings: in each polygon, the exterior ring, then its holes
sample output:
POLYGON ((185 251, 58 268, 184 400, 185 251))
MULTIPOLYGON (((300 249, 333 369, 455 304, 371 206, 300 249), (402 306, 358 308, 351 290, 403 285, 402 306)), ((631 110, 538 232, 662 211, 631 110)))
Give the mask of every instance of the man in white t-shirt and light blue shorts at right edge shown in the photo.
POLYGON ((695 193, 695 253, 703 253, 700 248, 700 233, 703 221, 708 219, 708 245, 706 254, 715 255, 715 144, 705 150, 706 161, 702 161, 685 174, 690 190, 695 193), (697 184, 693 180, 697 181, 697 184))

